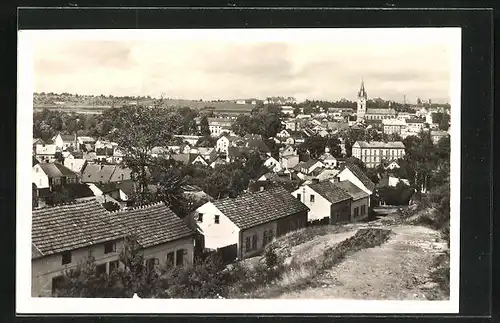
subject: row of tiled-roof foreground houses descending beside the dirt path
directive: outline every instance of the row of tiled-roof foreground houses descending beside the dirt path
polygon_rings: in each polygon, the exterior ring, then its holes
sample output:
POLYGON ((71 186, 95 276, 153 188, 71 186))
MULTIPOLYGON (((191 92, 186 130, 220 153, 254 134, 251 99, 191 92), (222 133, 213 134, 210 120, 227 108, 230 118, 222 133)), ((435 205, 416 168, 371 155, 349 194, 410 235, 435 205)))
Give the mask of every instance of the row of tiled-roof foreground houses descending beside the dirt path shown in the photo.
POLYGON ((292 193, 271 186, 208 201, 183 220, 162 203, 115 212, 96 200, 35 209, 32 295, 57 293, 64 272, 89 255, 98 273, 123 268, 119 259, 128 237, 137 241, 147 266, 185 266, 199 250, 220 252, 227 260, 245 259, 308 223, 358 221, 367 216, 373 189, 358 172, 349 165, 335 181, 303 185, 292 193))

